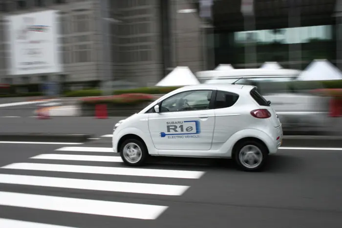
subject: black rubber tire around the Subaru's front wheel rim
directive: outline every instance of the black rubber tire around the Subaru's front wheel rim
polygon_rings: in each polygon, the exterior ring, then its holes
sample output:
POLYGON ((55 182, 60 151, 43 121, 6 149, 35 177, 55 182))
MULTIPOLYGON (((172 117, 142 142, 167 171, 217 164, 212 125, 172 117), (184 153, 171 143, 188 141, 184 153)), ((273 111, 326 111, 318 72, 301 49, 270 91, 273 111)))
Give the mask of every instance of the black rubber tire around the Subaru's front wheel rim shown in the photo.
POLYGON ((149 156, 149 152, 147 150, 146 145, 143 142, 141 142, 140 140, 136 140, 136 139, 125 140, 125 142, 120 146, 119 152, 120 152, 120 156, 121 156, 122 160, 128 166, 143 166, 146 163, 146 159, 149 156), (141 156, 138 156, 139 157, 138 161, 134 161, 134 162, 129 161, 128 155, 124 151, 126 145, 132 145, 132 146, 137 145, 140 148, 141 156))

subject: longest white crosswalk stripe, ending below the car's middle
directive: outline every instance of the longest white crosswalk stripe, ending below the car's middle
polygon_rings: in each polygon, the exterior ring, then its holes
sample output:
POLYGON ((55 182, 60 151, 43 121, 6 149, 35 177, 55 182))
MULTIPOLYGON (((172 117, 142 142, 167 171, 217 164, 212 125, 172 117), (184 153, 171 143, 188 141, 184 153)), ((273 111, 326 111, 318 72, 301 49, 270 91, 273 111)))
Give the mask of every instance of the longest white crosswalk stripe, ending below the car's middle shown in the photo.
POLYGON ((76 172, 76 173, 96 173, 125 176, 147 176, 147 177, 167 177, 181 179, 199 179, 205 172, 170 170, 170 169, 147 169, 147 168, 123 168, 123 167, 104 167, 104 166, 75 166, 57 164, 38 164, 38 163, 13 163, 1 168, 25 169, 56 172, 76 172))

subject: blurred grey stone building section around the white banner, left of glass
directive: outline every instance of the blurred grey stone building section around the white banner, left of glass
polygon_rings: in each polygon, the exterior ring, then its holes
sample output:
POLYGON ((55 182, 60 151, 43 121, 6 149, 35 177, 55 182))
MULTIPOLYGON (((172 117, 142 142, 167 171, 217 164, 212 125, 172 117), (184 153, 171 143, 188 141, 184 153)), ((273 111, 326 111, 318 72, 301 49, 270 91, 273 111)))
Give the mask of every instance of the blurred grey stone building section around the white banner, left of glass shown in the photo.
POLYGON ((200 19, 196 12, 181 11, 192 8, 188 0, 1 0, 1 82, 125 80, 144 86, 159 82, 178 65, 203 70, 200 19), (59 11, 62 71, 11 74, 6 16, 51 9, 59 11))

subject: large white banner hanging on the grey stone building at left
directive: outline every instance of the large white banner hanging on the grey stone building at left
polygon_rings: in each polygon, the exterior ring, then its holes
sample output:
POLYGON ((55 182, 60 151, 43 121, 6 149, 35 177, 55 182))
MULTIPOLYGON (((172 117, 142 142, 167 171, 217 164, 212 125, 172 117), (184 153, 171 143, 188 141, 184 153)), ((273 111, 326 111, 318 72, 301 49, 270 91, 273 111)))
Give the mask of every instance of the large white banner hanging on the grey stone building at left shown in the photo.
POLYGON ((13 15, 9 21, 11 75, 61 72, 58 11, 13 15))

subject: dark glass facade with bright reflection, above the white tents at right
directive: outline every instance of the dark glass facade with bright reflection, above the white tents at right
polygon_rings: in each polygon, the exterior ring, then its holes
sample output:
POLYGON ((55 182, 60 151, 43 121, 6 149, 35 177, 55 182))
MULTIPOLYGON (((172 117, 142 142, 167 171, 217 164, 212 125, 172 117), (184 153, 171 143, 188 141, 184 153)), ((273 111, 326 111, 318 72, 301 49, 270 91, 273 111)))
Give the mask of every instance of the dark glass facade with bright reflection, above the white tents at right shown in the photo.
POLYGON ((264 62, 279 62, 289 67, 303 69, 314 59, 336 58, 336 41, 333 25, 280 28, 257 31, 215 33, 215 63, 230 63, 235 68, 245 68, 245 46, 256 45, 256 67, 264 62), (290 49, 292 45, 292 49, 290 49), (298 52, 292 59, 291 52, 298 52), (293 66, 293 64, 292 64, 293 66))

